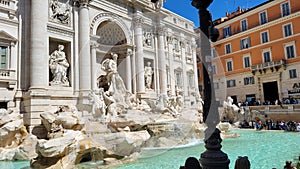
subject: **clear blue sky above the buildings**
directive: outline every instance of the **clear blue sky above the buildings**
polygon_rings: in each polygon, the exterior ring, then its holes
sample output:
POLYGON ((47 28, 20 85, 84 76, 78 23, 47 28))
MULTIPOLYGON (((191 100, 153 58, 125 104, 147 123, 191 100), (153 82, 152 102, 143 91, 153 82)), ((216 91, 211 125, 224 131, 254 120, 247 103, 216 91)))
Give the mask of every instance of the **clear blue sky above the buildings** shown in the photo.
MULTIPOLYGON (((226 11, 233 12, 238 6, 242 9, 252 8, 268 0, 214 0, 209 6, 213 20, 225 16, 226 11)), ((195 23, 199 27, 198 10, 191 5, 191 0, 166 0, 164 8, 181 15, 195 23)))

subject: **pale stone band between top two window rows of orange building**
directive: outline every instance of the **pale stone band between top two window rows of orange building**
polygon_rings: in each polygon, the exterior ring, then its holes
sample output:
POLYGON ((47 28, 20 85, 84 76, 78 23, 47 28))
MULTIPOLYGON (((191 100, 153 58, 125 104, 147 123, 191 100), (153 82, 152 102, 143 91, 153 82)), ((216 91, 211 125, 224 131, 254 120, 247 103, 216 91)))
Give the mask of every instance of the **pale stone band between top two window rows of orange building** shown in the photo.
POLYGON ((294 19, 294 18, 297 18, 297 17, 300 17, 300 11, 299 12, 296 12, 296 13, 293 13, 291 15, 288 15, 288 16, 285 16, 285 17, 282 17, 282 18, 279 18, 279 19, 276 19, 274 21, 271 21, 271 22, 268 22, 268 23, 265 23, 263 25, 260 25, 260 26, 257 26, 257 27, 254 27, 252 29, 249 29, 247 31, 244 31, 244 32, 240 32, 240 33, 237 33, 237 34, 234 34, 228 38, 224 38, 224 39, 221 39, 221 40, 218 40, 217 42, 213 43, 214 46, 216 45, 220 45, 222 43, 228 43, 229 41, 232 41, 234 39, 238 39, 242 36, 245 36, 245 35, 250 35, 252 33, 255 33, 255 32, 259 32, 260 30, 262 29, 265 29, 265 28, 268 28, 268 27, 271 27, 271 26, 274 26, 276 24, 280 24, 282 22, 285 22, 285 21, 288 21, 288 20, 291 20, 291 19, 294 19))

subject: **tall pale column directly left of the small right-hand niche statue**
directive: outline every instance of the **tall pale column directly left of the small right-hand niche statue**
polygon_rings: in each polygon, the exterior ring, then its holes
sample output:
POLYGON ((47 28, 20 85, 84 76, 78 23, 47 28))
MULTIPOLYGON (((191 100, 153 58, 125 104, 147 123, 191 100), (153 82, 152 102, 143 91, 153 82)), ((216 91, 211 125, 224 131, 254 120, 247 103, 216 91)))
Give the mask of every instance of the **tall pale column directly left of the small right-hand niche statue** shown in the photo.
POLYGON ((144 80, 144 51, 143 51, 143 28, 144 19, 141 16, 134 18, 134 40, 135 40, 135 73, 137 82, 137 93, 145 93, 144 80))

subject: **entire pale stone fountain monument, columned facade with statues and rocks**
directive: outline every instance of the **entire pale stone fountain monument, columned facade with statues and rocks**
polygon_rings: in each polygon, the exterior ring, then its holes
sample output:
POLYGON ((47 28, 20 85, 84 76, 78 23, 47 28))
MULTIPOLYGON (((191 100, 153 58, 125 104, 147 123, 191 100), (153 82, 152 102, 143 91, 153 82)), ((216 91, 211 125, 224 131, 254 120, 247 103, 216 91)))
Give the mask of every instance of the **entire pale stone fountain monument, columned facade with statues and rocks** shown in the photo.
POLYGON ((202 137, 192 22, 150 0, 4 1, 0 160, 109 164, 202 137))

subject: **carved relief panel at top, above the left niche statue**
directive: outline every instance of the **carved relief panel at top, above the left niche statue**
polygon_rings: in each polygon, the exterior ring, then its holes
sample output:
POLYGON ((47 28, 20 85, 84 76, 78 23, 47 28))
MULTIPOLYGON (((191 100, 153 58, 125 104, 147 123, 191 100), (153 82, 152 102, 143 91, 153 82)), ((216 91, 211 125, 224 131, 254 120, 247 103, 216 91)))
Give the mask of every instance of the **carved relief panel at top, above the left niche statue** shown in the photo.
POLYGON ((50 8, 52 15, 50 16, 54 20, 58 20, 63 24, 68 24, 70 21, 70 7, 69 0, 65 3, 59 3, 58 0, 50 1, 50 8))

